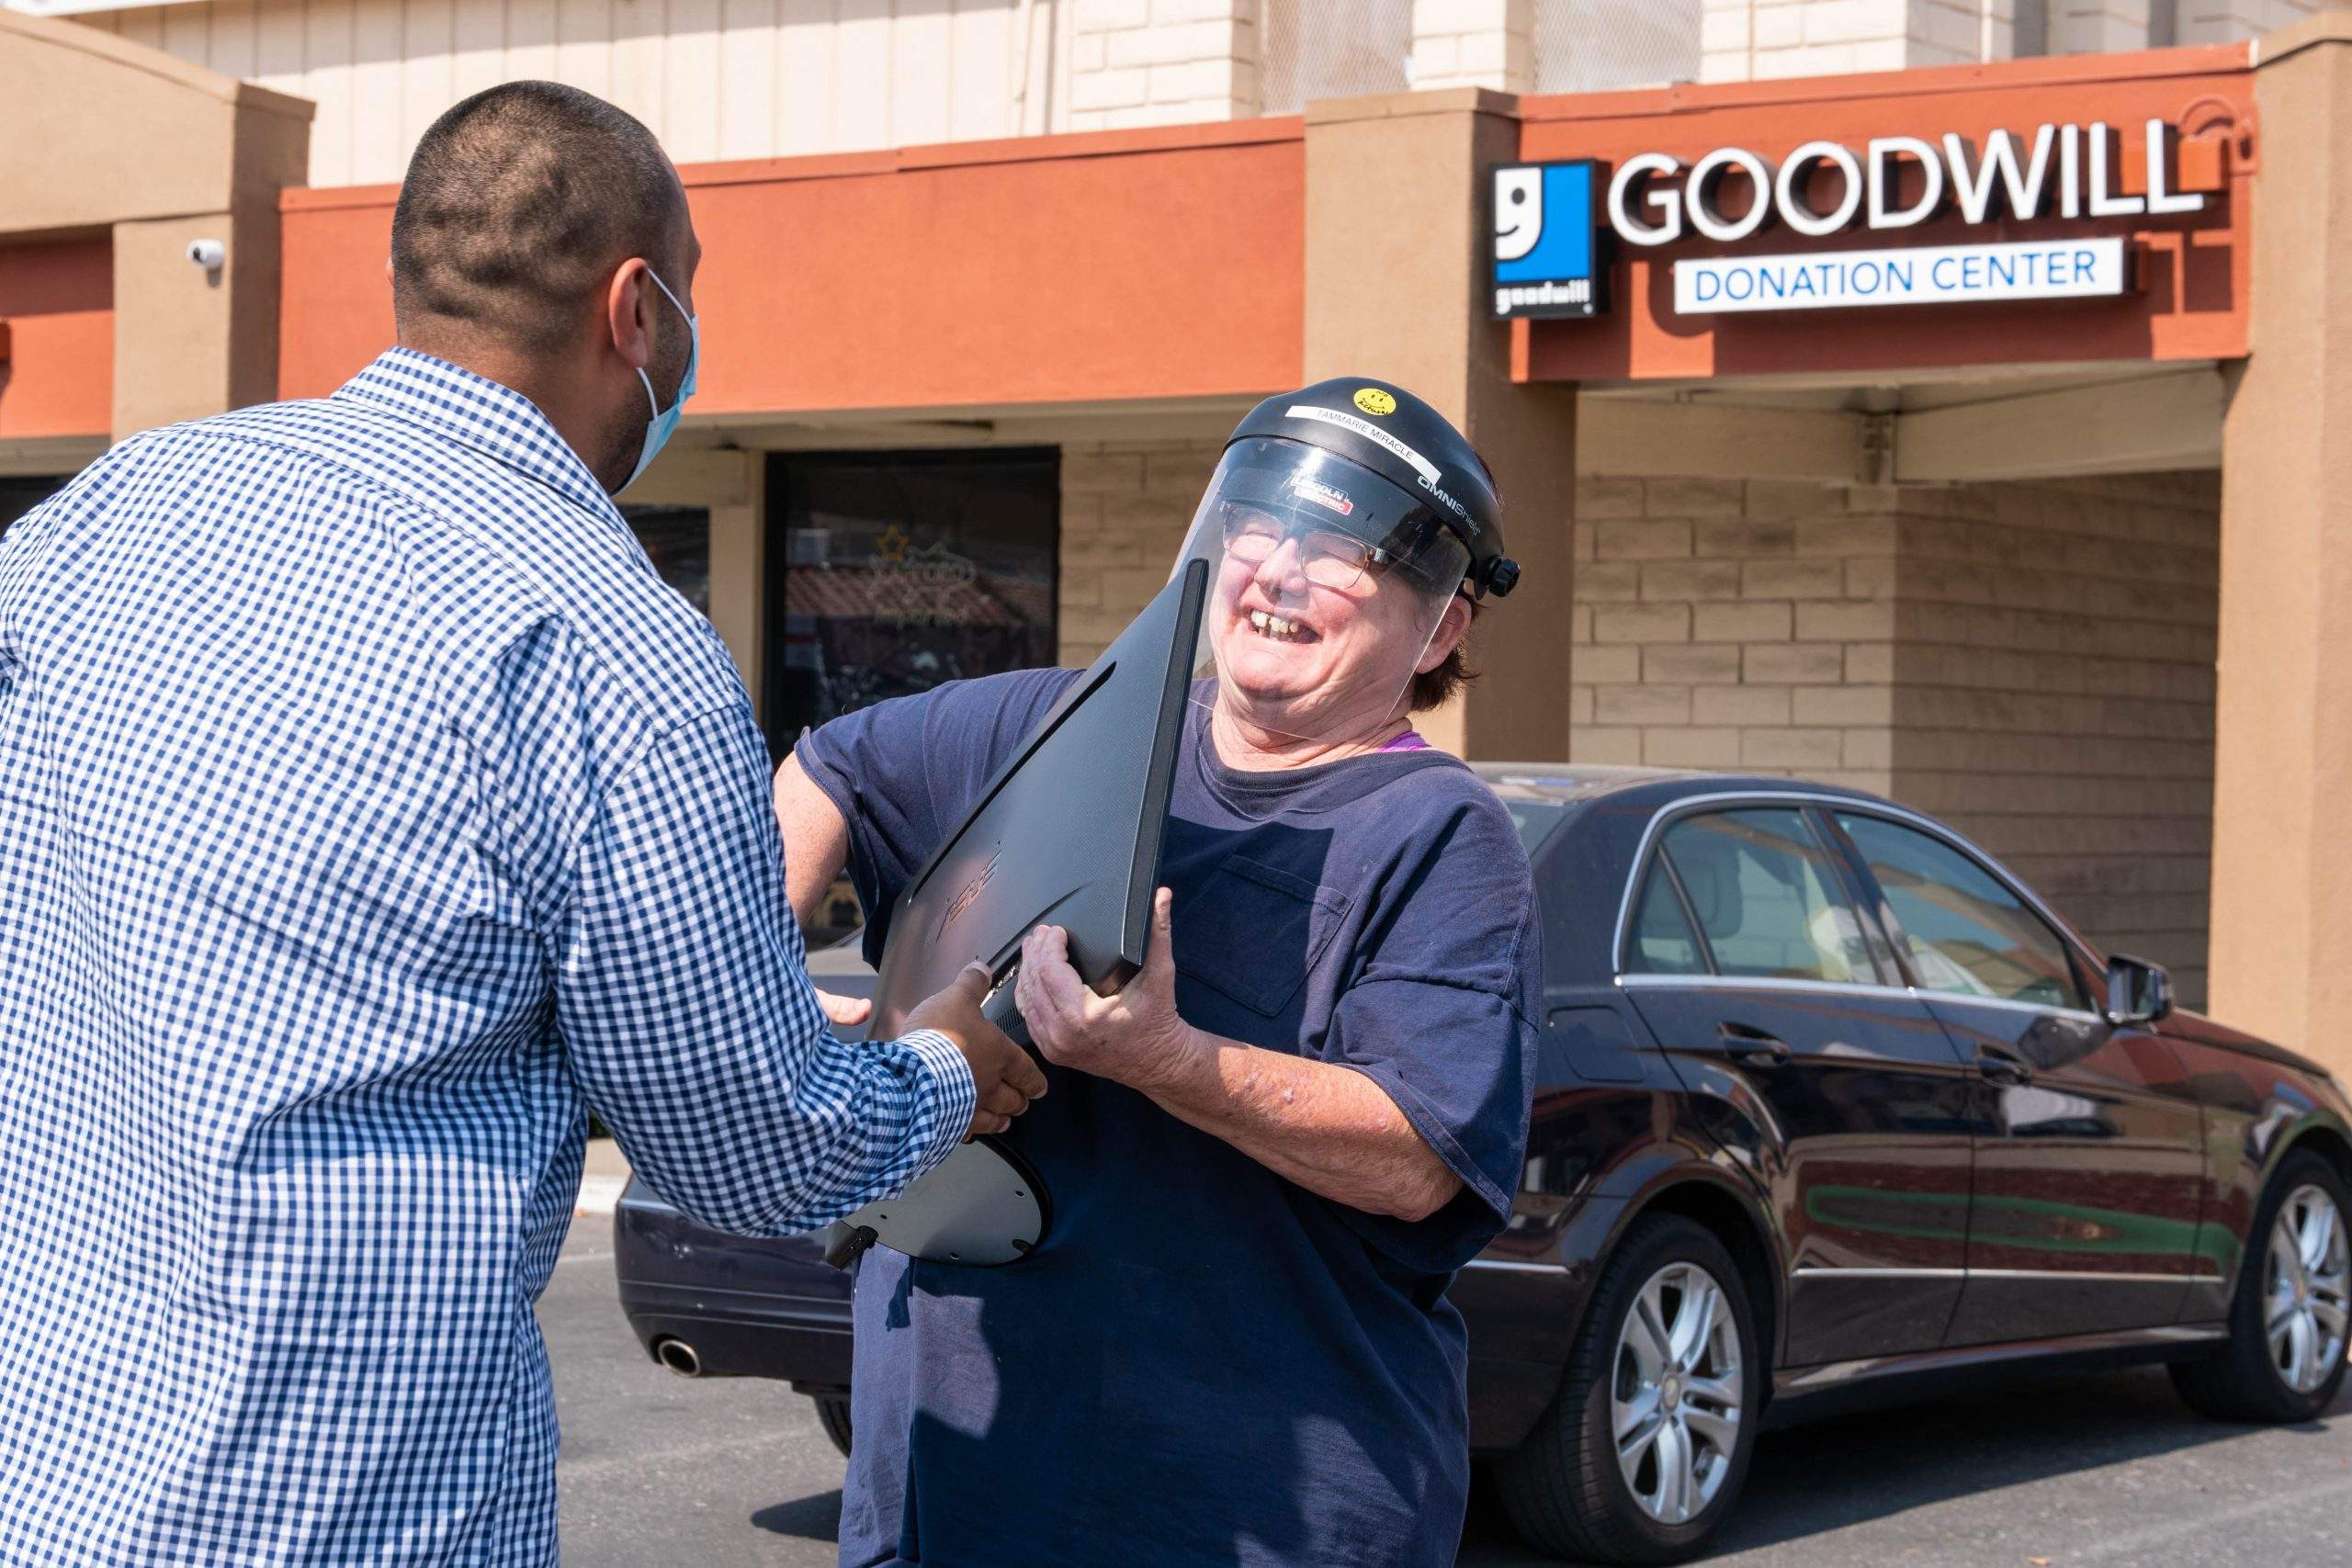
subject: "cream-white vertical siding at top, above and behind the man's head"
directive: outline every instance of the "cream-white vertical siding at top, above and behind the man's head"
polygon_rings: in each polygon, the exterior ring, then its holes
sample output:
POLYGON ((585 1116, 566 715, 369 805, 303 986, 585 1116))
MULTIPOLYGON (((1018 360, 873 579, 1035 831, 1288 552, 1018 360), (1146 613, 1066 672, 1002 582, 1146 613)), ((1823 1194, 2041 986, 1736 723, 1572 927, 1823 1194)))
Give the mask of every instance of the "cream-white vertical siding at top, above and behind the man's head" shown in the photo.
MULTIPOLYGON (((553 78, 680 162, 1073 129, 1070 0, 212 0, 75 21, 318 103, 310 183, 390 183, 470 92, 553 78), (1023 125, 1025 120, 1025 125, 1023 125)), ((1202 103, 1192 118, 1225 118, 1202 103)))

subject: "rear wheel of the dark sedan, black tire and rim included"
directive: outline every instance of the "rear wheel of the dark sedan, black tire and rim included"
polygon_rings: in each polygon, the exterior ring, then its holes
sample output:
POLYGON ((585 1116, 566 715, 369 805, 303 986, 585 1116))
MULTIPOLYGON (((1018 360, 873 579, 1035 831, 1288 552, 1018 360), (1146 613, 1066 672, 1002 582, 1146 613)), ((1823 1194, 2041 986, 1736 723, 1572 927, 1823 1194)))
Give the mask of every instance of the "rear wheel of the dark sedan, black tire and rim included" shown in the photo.
POLYGON ((1559 1556, 1696 1556, 1748 1474, 1762 1380, 1731 1253, 1693 1220, 1642 1220, 1602 1269, 1559 1396, 1496 1467, 1503 1507, 1559 1556))

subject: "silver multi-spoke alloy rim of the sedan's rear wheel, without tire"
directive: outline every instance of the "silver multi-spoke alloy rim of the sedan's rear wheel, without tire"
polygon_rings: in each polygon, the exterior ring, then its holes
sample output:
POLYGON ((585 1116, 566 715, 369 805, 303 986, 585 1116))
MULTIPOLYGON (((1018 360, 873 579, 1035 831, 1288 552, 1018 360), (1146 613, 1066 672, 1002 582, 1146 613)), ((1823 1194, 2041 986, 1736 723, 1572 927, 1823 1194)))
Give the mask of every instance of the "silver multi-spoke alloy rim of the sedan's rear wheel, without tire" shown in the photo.
POLYGON ((1740 1331, 1722 1284, 1696 1262, 1649 1276, 1618 1328, 1609 1434, 1618 1474, 1658 1523, 1715 1502, 1740 1441, 1740 1331))

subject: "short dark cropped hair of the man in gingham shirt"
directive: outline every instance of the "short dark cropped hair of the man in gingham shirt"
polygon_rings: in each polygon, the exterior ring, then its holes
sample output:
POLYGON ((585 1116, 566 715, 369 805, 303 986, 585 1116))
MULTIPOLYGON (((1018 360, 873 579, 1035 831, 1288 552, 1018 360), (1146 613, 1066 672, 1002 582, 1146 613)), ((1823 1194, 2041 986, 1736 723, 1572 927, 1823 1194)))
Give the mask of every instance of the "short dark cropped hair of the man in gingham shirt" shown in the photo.
MULTIPOLYGON (((560 82, 477 92, 416 143, 393 209, 393 315, 543 350, 630 256, 675 268, 684 195, 654 132, 560 82)), ((684 294, 682 277, 663 282, 684 294)))

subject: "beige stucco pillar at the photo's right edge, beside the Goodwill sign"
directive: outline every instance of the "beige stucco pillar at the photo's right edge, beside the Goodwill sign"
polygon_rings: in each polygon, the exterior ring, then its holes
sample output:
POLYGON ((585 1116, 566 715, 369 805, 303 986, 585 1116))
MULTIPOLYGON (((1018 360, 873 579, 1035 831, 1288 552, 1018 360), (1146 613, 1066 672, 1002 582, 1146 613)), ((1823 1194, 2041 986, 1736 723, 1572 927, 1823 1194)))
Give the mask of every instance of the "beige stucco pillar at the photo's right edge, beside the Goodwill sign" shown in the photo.
POLYGON ((2352 1077, 2352 14, 2258 54, 2253 317, 2223 428, 2213 1004, 2352 1077))

